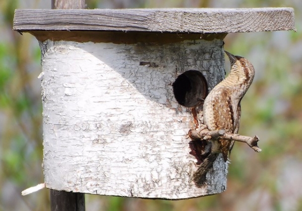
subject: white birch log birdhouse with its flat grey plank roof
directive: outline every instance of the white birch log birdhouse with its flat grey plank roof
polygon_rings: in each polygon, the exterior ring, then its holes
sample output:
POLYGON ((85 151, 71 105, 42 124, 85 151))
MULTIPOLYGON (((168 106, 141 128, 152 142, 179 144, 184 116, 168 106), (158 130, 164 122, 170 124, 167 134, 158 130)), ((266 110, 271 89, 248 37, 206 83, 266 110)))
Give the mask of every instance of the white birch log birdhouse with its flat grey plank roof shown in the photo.
POLYGON ((14 30, 41 48, 46 187, 165 199, 224 191, 221 155, 205 186, 192 181, 190 107, 224 78, 226 34, 293 29, 290 8, 16 10, 14 30))

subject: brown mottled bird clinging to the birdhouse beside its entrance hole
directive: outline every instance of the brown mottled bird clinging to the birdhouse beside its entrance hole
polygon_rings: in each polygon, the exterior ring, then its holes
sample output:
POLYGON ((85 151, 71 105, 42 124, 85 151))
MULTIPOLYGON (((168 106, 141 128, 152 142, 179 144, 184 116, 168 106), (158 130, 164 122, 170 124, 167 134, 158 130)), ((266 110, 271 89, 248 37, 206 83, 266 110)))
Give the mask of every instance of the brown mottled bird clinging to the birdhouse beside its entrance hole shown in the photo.
MULTIPOLYGON (((241 117, 240 103, 253 82, 255 70, 246 58, 224 52, 230 59, 231 70, 206 96, 203 103, 203 124, 209 131, 224 129, 228 133, 237 134, 241 117)), ((194 173, 195 183, 204 183, 205 175, 219 153, 222 153, 224 162, 228 161, 234 141, 221 139, 212 141, 211 144, 211 153, 194 173)))

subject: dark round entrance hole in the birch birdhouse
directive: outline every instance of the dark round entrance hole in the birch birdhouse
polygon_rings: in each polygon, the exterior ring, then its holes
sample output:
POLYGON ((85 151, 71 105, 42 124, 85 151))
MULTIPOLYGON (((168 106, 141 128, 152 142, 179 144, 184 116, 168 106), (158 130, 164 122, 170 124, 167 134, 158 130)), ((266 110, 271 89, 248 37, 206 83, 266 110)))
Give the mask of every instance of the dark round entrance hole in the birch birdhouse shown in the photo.
POLYGON ((197 70, 188 70, 182 73, 176 78, 172 86, 175 99, 185 107, 200 105, 208 92, 206 79, 197 70))

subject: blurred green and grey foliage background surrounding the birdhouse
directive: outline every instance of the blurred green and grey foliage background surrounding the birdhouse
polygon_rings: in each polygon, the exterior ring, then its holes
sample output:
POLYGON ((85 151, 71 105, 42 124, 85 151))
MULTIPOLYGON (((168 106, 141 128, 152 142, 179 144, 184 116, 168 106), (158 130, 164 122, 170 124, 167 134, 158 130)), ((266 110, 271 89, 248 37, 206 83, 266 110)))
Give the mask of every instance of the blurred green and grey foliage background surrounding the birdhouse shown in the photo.
MULTIPOLYGON (((224 48, 256 69, 242 101, 242 135, 258 135, 255 153, 232 151, 228 189, 218 195, 167 201, 86 195, 86 210, 302 210, 302 1, 86 0, 94 8, 292 7, 297 32, 229 34, 224 48)), ((50 9, 50 0, 0 0, 0 210, 50 210, 49 191, 21 196, 43 182, 40 49, 12 30, 15 9, 50 9)), ((226 70, 230 66, 226 65, 226 70)))

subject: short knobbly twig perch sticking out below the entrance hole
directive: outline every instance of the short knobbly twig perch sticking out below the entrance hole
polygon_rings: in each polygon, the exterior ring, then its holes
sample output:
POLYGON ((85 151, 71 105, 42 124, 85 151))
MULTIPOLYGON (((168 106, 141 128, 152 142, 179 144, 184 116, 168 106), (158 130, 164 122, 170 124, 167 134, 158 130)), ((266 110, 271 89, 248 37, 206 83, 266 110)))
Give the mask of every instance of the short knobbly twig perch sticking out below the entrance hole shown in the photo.
POLYGON ((189 137, 193 140, 224 139, 229 141, 244 142, 249 145, 249 147, 251 147, 255 152, 261 152, 261 149, 258 147, 259 138, 257 136, 252 138, 249 136, 241 136, 239 134, 226 133, 226 131, 223 129, 217 131, 209 131, 202 128, 200 130, 189 131, 189 137))

